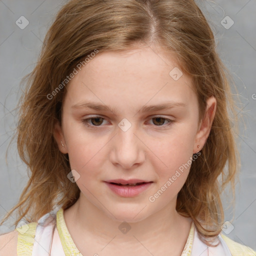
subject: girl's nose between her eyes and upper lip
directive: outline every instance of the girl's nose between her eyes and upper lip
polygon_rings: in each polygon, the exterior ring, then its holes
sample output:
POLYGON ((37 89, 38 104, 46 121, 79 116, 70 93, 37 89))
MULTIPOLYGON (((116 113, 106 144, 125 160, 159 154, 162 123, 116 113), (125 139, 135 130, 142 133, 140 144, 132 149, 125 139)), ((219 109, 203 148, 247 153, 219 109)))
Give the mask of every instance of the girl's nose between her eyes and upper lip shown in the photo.
POLYGON ((137 167, 145 160, 143 139, 135 125, 131 124, 127 130, 120 127, 116 127, 117 133, 112 140, 110 160, 124 169, 137 167))

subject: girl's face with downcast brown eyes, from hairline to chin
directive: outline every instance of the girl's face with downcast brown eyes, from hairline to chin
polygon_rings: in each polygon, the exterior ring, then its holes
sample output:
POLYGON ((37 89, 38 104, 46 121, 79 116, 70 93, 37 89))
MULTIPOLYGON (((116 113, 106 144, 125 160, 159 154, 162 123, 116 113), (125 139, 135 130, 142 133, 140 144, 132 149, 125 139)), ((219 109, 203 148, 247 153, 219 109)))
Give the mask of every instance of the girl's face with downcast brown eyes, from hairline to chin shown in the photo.
POLYGON ((144 47, 98 53, 71 79, 54 136, 84 203, 127 222, 175 210, 209 132, 191 78, 179 72, 173 56, 144 47))

